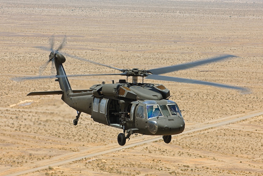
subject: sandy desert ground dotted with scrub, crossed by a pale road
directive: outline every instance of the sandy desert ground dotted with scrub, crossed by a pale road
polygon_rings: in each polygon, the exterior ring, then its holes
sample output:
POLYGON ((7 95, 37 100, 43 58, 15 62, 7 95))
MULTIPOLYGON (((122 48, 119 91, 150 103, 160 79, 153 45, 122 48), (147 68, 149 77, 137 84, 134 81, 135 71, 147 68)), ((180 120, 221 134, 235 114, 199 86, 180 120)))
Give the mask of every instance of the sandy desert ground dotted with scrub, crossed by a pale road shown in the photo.
MULTIPOLYGON (((263 2, 261 0, 0 0, 0 175, 263 175, 263 2), (250 92, 197 84, 164 84, 182 111, 186 128, 165 144, 161 136, 132 135, 94 122, 61 95, 46 68, 54 48, 116 68, 153 69, 222 54, 237 57, 166 76, 248 88, 250 92), (205 72, 204 72, 205 71, 205 72)), ((119 73, 76 58, 68 75, 119 73)), ((121 76, 70 77, 89 89, 121 76)), ((139 80, 142 81, 142 80, 139 80)))

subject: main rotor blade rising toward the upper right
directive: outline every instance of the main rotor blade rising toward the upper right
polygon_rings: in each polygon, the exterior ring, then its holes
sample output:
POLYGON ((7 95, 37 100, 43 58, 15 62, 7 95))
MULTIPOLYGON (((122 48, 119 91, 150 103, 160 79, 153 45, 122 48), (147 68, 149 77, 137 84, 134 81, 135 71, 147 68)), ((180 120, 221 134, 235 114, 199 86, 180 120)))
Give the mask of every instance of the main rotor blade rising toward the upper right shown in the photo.
POLYGON ((223 59, 226 59, 226 58, 230 58, 230 57, 236 57, 236 56, 224 55, 224 56, 219 56, 219 57, 216 57, 216 58, 208 58, 208 59, 205 59, 205 60, 189 62, 189 63, 185 63, 185 64, 161 67, 161 68, 157 68, 157 69, 150 69, 148 71, 150 71, 150 73, 152 73, 154 75, 160 75, 160 74, 174 72, 174 71, 178 71, 178 70, 189 69, 189 68, 200 66, 200 65, 207 64, 207 63, 210 63, 210 62, 217 62, 217 61, 220 61, 220 60, 223 60, 223 59))

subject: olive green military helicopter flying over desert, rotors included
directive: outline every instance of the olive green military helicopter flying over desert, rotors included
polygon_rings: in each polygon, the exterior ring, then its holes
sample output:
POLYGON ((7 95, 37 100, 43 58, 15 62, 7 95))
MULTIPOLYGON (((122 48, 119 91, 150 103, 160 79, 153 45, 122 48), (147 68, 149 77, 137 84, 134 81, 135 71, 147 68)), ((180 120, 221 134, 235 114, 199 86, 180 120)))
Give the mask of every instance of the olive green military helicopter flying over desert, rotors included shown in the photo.
MULTIPOLYGON (((137 68, 118 69, 67 53, 61 54, 59 53, 61 47, 62 44, 56 51, 51 49, 48 61, 55 64, 55 81, 58 81, 61 90, 30 92, 28 95, 62 95, 61 99, 70 107, 77 110, 77 116, 73 120, 74 125, 77 125, 81 113, 90 114, 95 122, 123 130, 123 133, 120 133, 117 137, 119 145, 124 145, 126 139, 130 140, 132 134, 136 135, 138 133, 144 135, 162 135, 164 142, 170 143, 171 135, 182 133, 185 129, 185 121, 178 105, 174 101, 169 100, 171 97, 170 91, 163 84, 143 83, 143 78, 204 84, 247 91, 246 88, 226 84, 160 75, 235 57, 233 55, 223 55, 215 58, 149 70, 137 68), (87 90, 72 90, 63 68, 63 64, 66 62, 64 55, 117 69, 121 72, 99 75, 123 75, 126 76, 127 79, 121 79, 117 83, 112 82, 111 84, 105 84, 105 82, 102 84, 95 84, 87 90), (128 82, 128 77, 132 77, 132 82, 128 82), (138 77, 142 77, 142 83, 138 82, 138 77)), ((31 77, 26 79, 38 78, 39 77, 31 77)))

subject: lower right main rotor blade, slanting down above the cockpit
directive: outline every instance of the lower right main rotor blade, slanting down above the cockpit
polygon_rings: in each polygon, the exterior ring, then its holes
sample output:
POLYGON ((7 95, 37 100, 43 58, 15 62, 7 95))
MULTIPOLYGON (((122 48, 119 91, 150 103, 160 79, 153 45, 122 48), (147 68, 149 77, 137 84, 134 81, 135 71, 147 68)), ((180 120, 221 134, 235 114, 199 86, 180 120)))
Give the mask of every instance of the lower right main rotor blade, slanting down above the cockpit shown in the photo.
POLYGON ((199 80, 192 80, 192 79, 186 79, 186 78, 178 78, 178 77, 167 77, 162 75, 149 75, 145 77, 146 79, 152 79, 152 80, 162 80, 162 81, 174 81, 174 82, 181 82, 181 83, 190 83, 190 84, 202 84, 202 85, 210 85, 210 86, 216 86, 216 87, 222 87, 222 88, 231 88, 240 90, 243 93, 249 93, 249 89, 247 88, 241 88, 237 86, 227 85, 227 84, 219 84, 214 82, 207 82, 207 81, 199 81, 199 80))

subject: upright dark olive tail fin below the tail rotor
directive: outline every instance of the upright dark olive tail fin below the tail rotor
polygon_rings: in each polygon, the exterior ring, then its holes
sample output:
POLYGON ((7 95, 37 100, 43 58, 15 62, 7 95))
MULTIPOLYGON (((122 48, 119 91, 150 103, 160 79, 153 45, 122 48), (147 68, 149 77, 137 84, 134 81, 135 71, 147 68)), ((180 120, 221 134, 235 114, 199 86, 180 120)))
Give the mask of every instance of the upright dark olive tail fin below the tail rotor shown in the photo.
POLYGON ((66 58, 62 54, 56 53, 56 56, 54 58, 54 63, 57 71, 56 78, 58 78, 56 79, 56 81, 59 81, 60 88, 63 91, 62 99, 66 102, 67 97, 70 97, 73 94, 73 91, 70 87, 67 75, 62 65, 65 61, 66 58))

